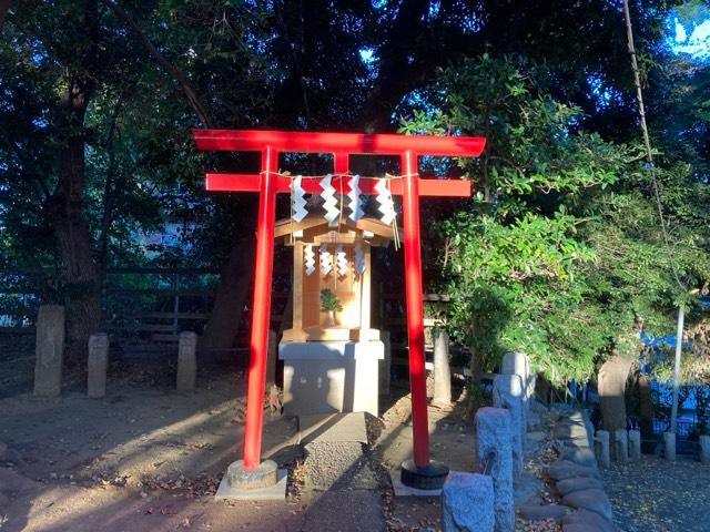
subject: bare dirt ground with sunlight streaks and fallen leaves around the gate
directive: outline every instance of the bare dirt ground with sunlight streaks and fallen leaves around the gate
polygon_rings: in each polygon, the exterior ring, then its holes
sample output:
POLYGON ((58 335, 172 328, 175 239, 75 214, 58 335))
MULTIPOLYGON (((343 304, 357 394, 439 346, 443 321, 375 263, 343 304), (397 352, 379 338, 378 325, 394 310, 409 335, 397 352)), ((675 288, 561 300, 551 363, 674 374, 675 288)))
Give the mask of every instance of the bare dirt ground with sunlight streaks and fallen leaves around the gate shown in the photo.
MULTIPOLYGON (((173 389, 171 357, 116 360, 105 398, 87 398, 75 382, 57 399, 39 399, 31 395, 29 358, 18 366, 0 352, 2 532, 303 526, 307 503, 300 492, 304 472, 294 418, 264 418, 263 456, 290 468, 287 499, 213 499, 226 467, 241 456, 244 378, 237 368, 201 368, 197 391, 181 395, 173 389)), ((369 423, 376 439, 372 456, 386 469, 412 453, 407 386, 393 380, 384 413, 369 423)), ((474 468, 473 417, 466 412, 463 405, 429 408, 432 458, 454 470, 474 468)), ((523 492, 539 490, 534 477, 526 482, 523 492)), ((382 499, 389 530, 440 530, 437 498, 395 499, 385 487, 382 499)), ((344 523, 343 530, 353 529, 344 523)))

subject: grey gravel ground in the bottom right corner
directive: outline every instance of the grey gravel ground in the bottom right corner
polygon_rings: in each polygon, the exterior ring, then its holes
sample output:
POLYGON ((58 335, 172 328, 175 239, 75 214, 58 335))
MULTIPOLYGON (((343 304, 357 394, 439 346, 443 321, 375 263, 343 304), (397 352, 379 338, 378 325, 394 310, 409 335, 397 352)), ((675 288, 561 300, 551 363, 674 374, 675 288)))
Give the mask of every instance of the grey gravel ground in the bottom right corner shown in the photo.
POLYGON ((602 470, 617 526, 623 532, 710 530, 710 466, 645 456, 602 470))

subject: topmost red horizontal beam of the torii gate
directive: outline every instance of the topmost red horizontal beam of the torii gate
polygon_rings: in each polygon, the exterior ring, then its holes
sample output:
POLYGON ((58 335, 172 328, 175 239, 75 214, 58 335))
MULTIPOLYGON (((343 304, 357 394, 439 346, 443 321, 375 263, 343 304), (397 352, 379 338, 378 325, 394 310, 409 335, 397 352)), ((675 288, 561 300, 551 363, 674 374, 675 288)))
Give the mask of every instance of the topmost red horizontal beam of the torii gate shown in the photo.
POLYGON ((265 145, 278 152, 372 153, 399 155, 413 150, 438 156, 478 156, 486 145, 480 136, 393 135, 367 133, 261 130, 193 130, 200 150, 257 152, 265 145))

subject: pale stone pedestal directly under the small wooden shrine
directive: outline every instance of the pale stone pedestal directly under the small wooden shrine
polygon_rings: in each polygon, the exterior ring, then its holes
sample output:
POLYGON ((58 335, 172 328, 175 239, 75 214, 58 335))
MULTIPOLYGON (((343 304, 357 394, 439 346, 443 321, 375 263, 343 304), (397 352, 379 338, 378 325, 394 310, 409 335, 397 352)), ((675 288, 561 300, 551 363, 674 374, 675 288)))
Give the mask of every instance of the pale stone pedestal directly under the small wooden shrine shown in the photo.
POLYGON ((278 358, 284 362, 285 413, 378 415, 382 341, 282 341, 278 358))

